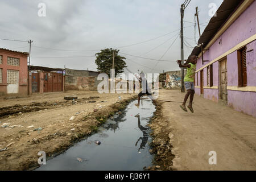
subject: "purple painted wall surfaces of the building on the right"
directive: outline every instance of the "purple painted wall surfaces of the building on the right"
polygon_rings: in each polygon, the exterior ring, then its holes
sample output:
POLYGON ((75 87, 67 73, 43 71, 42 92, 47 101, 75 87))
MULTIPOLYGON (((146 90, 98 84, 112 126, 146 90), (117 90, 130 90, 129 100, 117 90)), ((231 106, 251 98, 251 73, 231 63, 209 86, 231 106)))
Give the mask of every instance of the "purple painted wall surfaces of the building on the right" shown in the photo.
MULTIPOLYGON (((204 60, 212 61, 243 40, 256 34, 256 1, 212 44, 209 51, 204 53, 204 60)), ((256 86, 256 40, 246 45, 247 86, 256 86)), ((208 62, 205 62, 207 64, 208 62)), ((201 57, 196 69, 203 67, 201 57)), ((238 86, 237 51, 227 56, 228 86, 238 86)), ((200 86, 200 72, 199 72, 200 86)), ((204 68, 204 86, 207 86, 207 68, 204 68)), ((213 86, 218 85, 218 62, 213 63, 213 86)), ((200 88, 195 89, 200 95, 200 88)), ((218 89, 204 89, 204 98, 218 101, 218 89)), ((235 110, 256 117, 256 92, 241 92, 228 90, 228 105, 235 110)))

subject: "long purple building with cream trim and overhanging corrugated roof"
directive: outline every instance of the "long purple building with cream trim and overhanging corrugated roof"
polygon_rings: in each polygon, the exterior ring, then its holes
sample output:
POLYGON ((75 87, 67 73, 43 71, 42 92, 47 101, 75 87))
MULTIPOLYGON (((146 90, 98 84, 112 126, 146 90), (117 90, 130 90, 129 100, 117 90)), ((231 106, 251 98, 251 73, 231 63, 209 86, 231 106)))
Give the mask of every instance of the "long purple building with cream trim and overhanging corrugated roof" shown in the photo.
POLYGON ((256 117, 256 1, 224 0, 192 54, 196 94, 256 117))

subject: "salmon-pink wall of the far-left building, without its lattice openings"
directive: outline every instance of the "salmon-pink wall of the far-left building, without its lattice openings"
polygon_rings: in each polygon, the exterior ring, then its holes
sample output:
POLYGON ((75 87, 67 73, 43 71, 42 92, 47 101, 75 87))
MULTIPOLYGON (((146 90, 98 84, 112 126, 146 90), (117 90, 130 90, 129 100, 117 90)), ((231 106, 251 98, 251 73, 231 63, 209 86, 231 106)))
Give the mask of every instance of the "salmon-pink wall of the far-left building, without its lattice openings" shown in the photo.
POLYGON ((2 83, 0 83, 0 95, 7 94, 7 69, 19 71, 19 93, 15 95, 28 94, 28 71, 27 71, 27 56, 18 52, 11 52, 0 49, 0 55, 3 56, 2 64, 2 83), (7 65, 7 57, 19 58, 19 66, 7 65))

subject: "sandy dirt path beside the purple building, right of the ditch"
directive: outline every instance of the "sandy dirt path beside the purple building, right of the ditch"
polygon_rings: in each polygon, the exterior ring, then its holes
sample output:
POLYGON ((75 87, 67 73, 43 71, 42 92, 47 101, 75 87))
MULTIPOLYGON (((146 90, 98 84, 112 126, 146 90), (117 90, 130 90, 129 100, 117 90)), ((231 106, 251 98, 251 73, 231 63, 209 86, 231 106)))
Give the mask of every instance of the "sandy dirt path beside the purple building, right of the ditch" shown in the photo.
POLYGON ((160 90, 159 100, 177 101, 158 101, 161 109, 151 124, 158 149, 161 141, 171 146, 171 152, 158 150, 160 166, 167 170, 256 170, 256 118, 200 96, 194 98, 195 113, 185 112, 178 103, 184 95, 180 90, 160 90), (216 151, 217 164, 209 164, 210 151, 216 151))

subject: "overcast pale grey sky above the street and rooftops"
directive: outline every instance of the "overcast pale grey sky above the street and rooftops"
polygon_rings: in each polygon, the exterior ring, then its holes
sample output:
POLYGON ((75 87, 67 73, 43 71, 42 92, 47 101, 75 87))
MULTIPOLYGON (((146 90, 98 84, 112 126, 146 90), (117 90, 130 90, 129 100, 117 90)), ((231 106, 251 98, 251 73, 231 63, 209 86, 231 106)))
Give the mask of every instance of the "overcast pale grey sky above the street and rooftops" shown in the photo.
MULTIPOLYGON (((138 72, 138 69, 146 73, 174 71, 179 69, 174 61, 180 59, 180 5, 184 1, 1 0, 0 47, 28 52, 27 42, 1 39, 31 39, 34 41, 32 65, 52 68, 64 68, 65 65, 66 68, 92 71, 97 71, 96 52, 117 48, 119 55, 127 58, 127 68, 131 72, 138 72), (39 3, 46 5, 46 16, 38 15, 39 3), (170 62, 157 61, 159 59, 170 62)), ((203 32, 211 18, 210 3, 218 8, 222 0, 191 0, 185 9, 185 58, 195 46, 195 7, 199 7, 203 32)), ((196 27, 196 42, 198 38, 196 27)))

